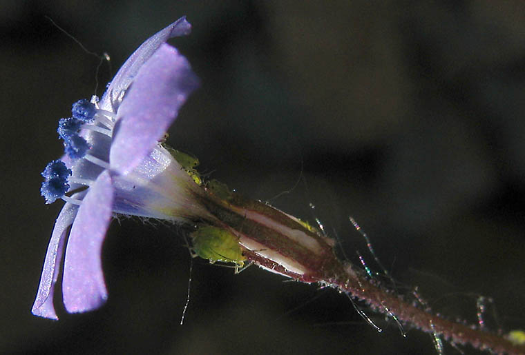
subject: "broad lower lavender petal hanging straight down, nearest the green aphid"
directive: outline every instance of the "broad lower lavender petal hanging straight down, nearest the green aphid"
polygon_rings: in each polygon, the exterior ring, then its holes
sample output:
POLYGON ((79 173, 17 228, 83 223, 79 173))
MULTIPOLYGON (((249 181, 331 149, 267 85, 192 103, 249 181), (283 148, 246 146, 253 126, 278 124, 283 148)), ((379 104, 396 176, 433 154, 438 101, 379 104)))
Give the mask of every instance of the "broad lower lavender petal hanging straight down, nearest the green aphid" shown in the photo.
POLYGON ((113 186, 106 171, 89 188, 71 227, 62 281, 64 305, 70 313, 94 310, 108 296, 101 253, 112 205, 113 186))

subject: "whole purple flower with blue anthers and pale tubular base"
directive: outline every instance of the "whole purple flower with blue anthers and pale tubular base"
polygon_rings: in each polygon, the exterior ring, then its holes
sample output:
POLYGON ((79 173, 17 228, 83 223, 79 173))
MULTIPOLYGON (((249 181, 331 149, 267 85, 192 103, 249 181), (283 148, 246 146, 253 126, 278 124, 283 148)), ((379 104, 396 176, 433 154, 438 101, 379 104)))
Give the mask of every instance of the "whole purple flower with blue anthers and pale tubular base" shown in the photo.
POLYGON ((191 199, 198 190, 191 176, 158 143, 198 87, 188 61, 165 43, 190 30, 182 17, 146 40, 101 100, 78 101, 73 117, 61 119, 66 155, 63 163, 48 164, 41 192, 47 203, 66 204, 51 235, 32 314, 58 319, 53 290, 67 237, 64 305, 70 313, 85 312, 107 298, 101 250, 113 214, 171 221, 206 214, 191 199))

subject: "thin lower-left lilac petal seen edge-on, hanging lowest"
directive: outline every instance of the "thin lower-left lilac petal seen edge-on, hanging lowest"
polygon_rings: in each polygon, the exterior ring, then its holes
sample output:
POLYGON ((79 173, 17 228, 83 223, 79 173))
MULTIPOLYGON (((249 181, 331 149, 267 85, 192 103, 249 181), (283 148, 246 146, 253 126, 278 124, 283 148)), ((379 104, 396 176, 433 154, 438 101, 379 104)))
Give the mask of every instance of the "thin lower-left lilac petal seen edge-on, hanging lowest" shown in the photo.
MULTIPOLYGON (((74 195, 74 197, 82 197, 82 194, 85 193, 81 192, 76 196, 74 195)), ((67 229, 73 223, 75 216, 77 216, 77 210, 78 205, 66 203, 57 217, 53 234, 51 234, 49 241, 46 260, 44 261, 44 269, 42 270, 40 278, 37 298, 31 310, 31 313, 35 314, 35 316, 58 319, 55 307, 53 307, 53 294, 60 270, 62 253, 64 252, 64 241, 66 240, 67 229)))

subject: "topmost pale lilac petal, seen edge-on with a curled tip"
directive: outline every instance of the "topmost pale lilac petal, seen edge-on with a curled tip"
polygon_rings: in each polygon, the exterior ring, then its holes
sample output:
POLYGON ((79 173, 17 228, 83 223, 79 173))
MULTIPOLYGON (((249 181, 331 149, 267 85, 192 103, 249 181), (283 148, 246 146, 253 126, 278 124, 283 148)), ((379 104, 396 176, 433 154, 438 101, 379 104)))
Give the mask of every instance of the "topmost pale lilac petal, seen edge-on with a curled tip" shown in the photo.
POLYGON ((113 111, 113 105, 122 99, 121 95, 131 84, 140 67, 155 53, 156 50, 172 37, 185 36, 191 32, 191 25, 186 17, 181 17, 171 25, 146 39, 126 60, 117 72, 99 105, 102 109, 113 111))

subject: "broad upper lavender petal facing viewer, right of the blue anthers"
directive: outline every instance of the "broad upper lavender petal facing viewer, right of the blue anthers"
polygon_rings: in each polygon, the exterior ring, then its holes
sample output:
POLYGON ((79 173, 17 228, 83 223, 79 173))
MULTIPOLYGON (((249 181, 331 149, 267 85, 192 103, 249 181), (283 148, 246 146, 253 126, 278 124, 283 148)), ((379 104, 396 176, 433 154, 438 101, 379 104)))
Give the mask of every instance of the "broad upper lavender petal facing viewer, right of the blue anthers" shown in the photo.
POLYGON ((111 168, 128 174, 153 150, 198 87, 186 58, 163 44, 140 68, 117 112, 111 168))

